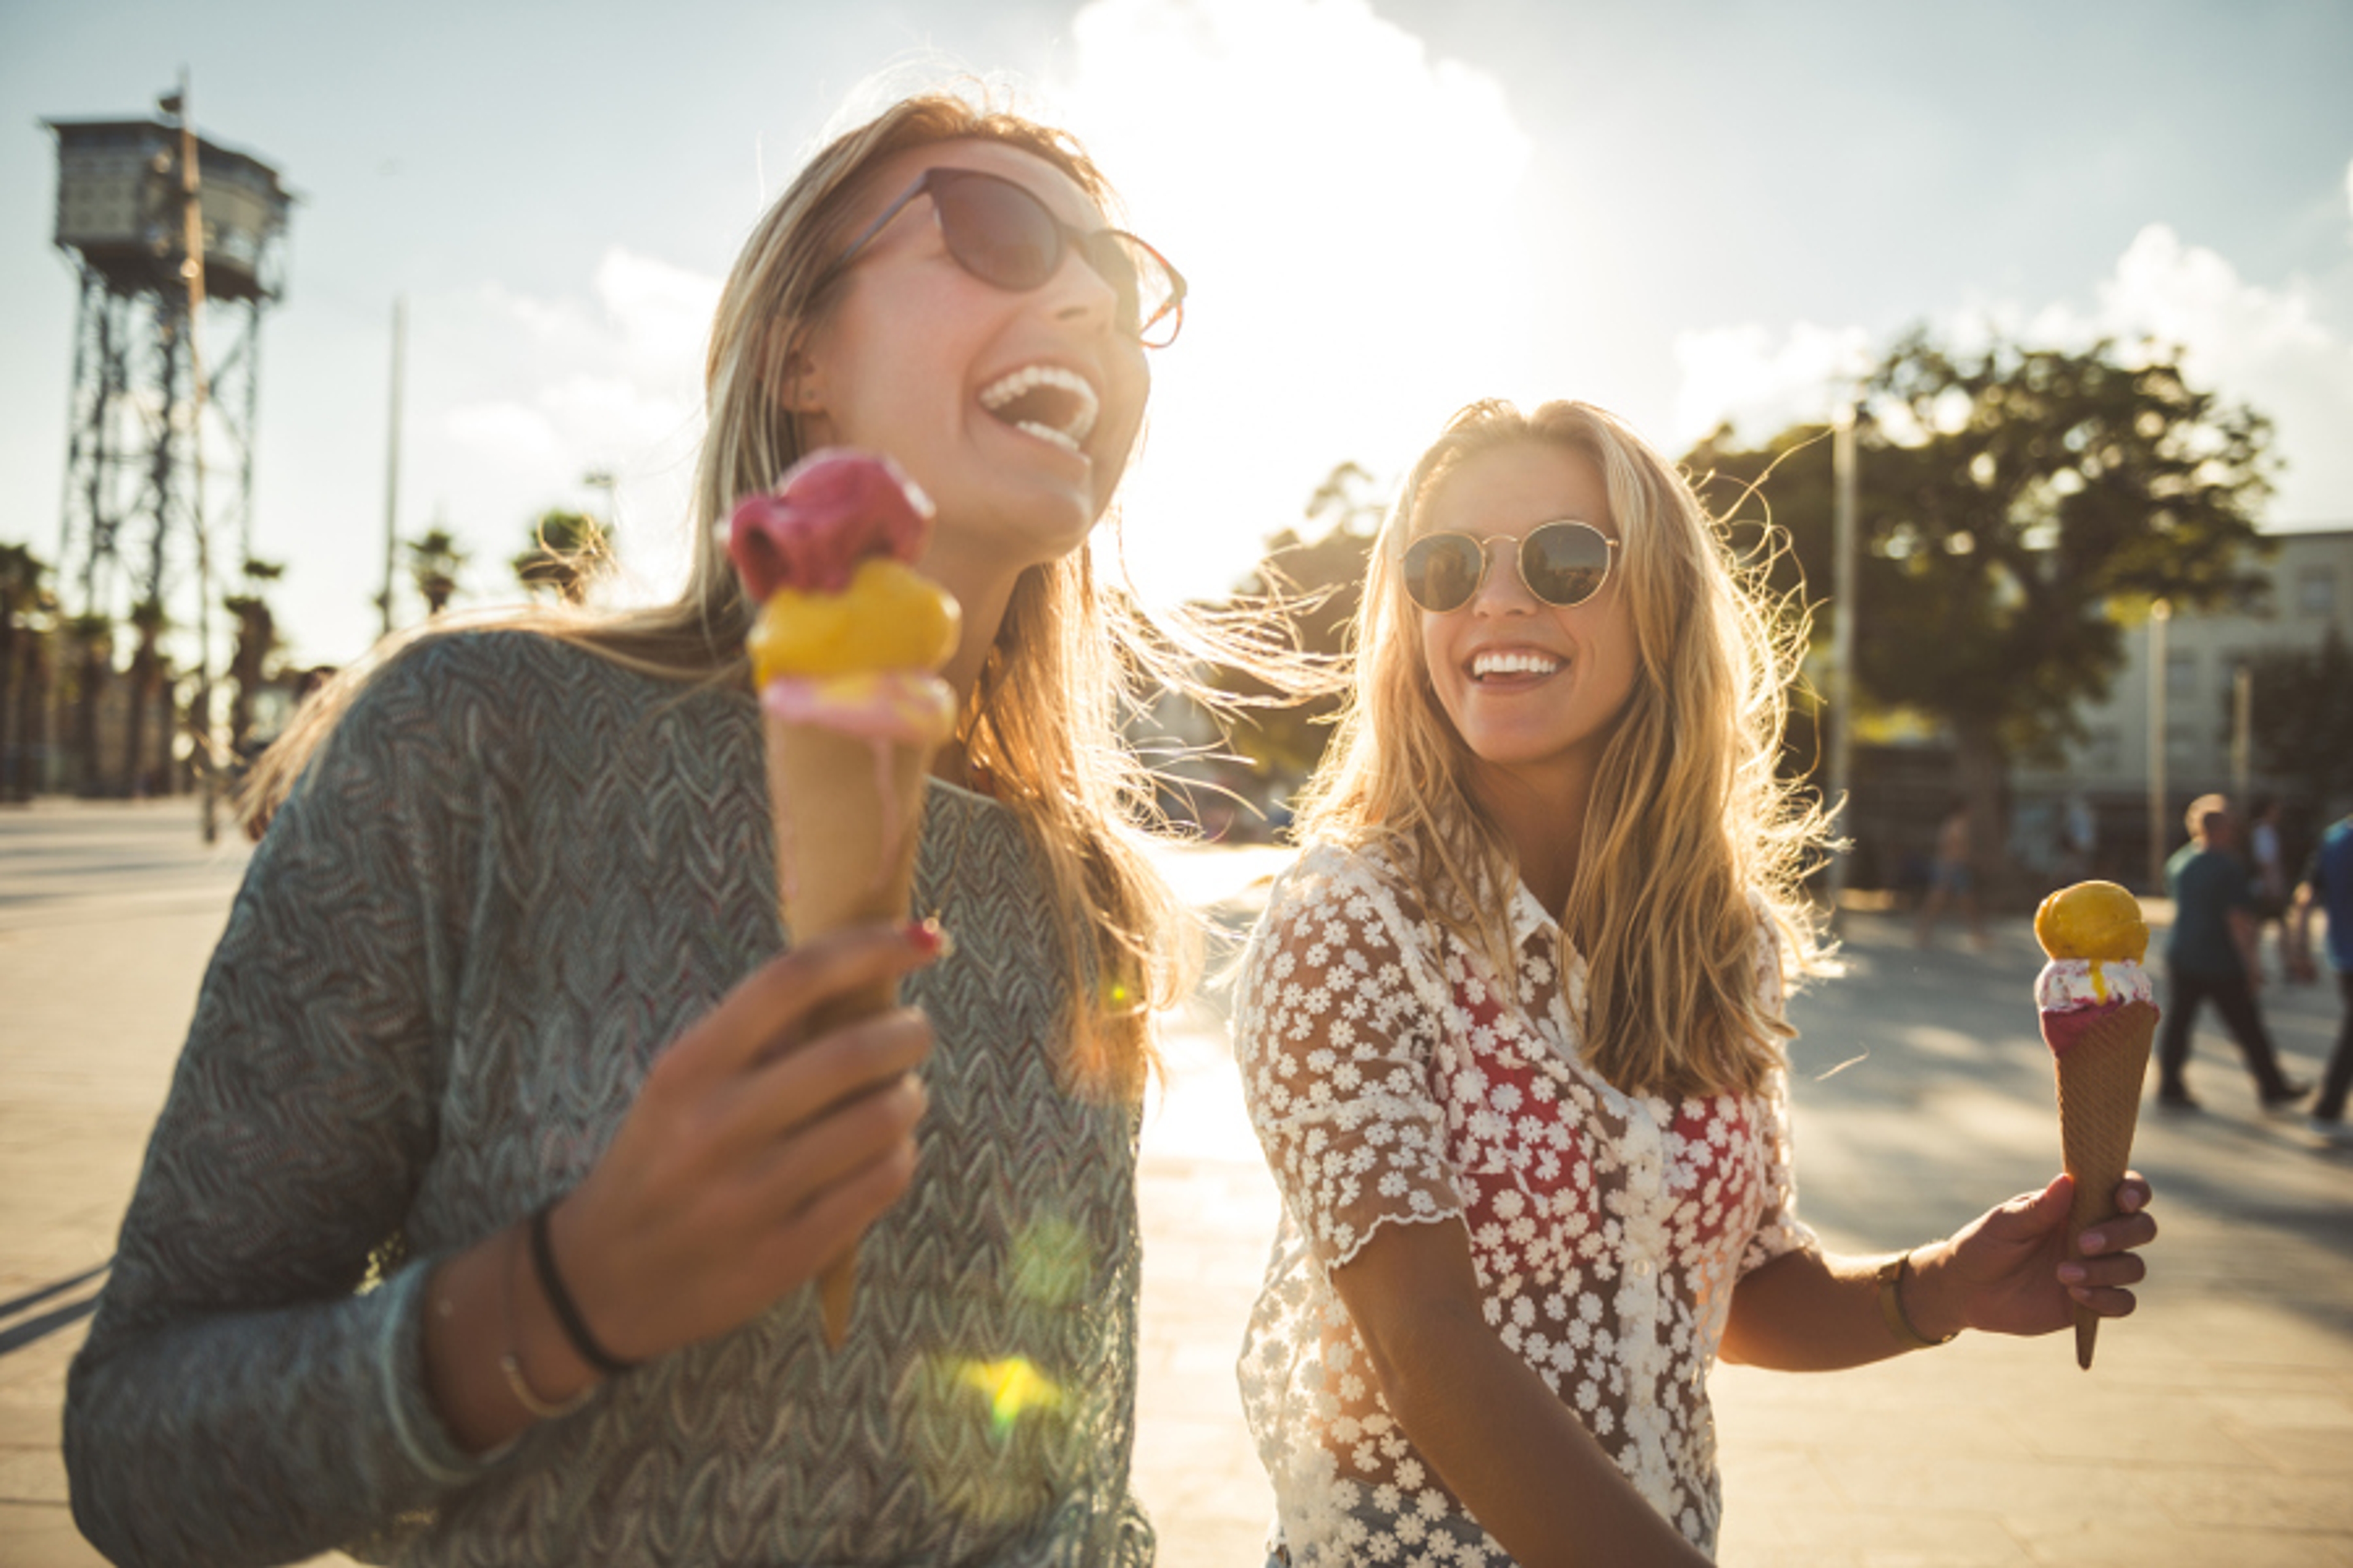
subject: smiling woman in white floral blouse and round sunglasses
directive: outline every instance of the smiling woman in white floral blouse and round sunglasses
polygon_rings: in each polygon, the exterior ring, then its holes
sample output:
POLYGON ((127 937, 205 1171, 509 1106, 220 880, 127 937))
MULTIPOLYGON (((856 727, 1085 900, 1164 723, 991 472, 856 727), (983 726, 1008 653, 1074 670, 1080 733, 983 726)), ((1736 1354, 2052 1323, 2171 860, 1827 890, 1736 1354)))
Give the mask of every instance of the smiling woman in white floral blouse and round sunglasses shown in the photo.
POLYGON ((1278 1561, 1699 1563, 1718 1356, 2132 1309, 2139 1178, 2085 1265, 2066 1178, 1885 1262, 1798 1222, 1821 823, 1774 778, 1772 625, 1600 409, 1478 404, 1407 477, 1235 1013, 1285 1199, 1240 1366, 1278 1561))

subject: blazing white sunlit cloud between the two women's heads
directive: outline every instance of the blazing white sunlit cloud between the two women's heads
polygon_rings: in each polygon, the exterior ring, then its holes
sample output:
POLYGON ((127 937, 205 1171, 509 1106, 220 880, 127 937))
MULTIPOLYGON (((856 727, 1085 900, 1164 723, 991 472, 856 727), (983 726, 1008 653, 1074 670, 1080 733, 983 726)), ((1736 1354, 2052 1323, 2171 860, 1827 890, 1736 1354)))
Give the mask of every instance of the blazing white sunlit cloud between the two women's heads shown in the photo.
POLYGON ((1395 473, 1527 378, 1529 139, 1494 78, 1365 0, 1094 0, 1073 42, 1052 113, 1195 282, 1153 362, 1129 562, 1214 592, 1334 463, 1395 473))

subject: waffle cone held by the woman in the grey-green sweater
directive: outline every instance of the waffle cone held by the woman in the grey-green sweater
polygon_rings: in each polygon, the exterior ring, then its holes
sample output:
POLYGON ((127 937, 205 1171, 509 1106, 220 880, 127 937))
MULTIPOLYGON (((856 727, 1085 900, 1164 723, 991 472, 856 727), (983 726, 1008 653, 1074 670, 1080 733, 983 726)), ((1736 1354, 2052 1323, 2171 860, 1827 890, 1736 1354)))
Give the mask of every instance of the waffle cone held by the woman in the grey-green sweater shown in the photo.
MULTIPOLYGON (((793 945, 847 926, 906 922, 915 886, 922 790, 936 745, 866 741, 821 724, 765 717, 767 790, 776 820, 776 898, 793 945)), ((842 992, 809 1016, 819 1034, 899 1004, 896 985, 842 992)), ((856 1246, 816 1281, 826 1345, 849 1335, 856 1246)))

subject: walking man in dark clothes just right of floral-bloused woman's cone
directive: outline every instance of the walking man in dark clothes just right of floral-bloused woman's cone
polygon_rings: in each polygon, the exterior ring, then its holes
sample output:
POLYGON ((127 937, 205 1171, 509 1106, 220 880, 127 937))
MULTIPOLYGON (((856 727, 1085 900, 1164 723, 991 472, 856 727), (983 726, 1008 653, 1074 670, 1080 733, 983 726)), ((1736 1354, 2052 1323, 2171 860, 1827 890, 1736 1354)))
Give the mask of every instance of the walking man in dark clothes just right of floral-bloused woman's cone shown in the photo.
POLYGON ((2254 952, 2254 882, 2238 858, 2231 802, 2200 795, 2186 813, 2191 842, 2165 863, 2165 891, 2174 900, 2174 929, 2165 938, 2167 1009, 2158 1034, 2158 1105, 2198 1110, 2191 1098, 2191 1025, 2207 1001, 2221 1013, 2264 1110, 2289 1110, 2313 1091, 2289 1081, 2264 1030, 2254 1001, 2264 971, 2254 952))

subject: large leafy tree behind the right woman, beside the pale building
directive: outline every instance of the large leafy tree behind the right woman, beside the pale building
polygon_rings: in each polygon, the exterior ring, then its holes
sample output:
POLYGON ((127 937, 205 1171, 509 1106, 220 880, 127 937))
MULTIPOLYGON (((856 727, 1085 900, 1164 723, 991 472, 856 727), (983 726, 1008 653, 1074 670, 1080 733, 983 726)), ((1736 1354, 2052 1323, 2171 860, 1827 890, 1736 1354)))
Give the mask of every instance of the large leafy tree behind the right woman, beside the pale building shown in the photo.
MULTIPOLYGON (((1760 515, 1788 531, 1779 588, 1831 583, 1824 435, 1798 425, 1744 451, 1718 433, 1685 458, 1718 510, 1755 487, 1739 545, 1762 543, 1760 515)), ((2153 346, 1965 355, 1915 331, 1873 369, 1857 430, 1859 698, 1944 722, 1981 846, 2005 839, 2009 762, 2080 733, 2153 599, 2207 609, 2259 590, 2242 562, 2264 550, 2268 444, 2266 418, 2193 388, 2153 346)), ((1817 637, 1838 614, 1817 616, 1817 637)))

